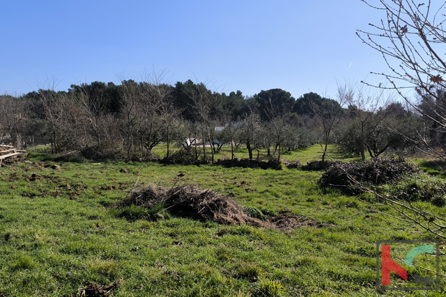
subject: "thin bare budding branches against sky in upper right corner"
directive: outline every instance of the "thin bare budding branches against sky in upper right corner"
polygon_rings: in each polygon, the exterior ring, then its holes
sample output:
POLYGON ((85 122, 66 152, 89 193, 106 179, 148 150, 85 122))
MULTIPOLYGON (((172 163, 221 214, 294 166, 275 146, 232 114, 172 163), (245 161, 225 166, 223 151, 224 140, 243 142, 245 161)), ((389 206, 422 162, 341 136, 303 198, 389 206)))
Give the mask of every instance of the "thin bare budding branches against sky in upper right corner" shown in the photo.
MULTIPOLYGON (((436 123, 435 129, 444 132, 446 97, 442 93, 446 88, 446 81, 442 76, 446 74, 446 35, 443 28, 446 18, 443 10, 446 2, 380 0, 379 5, 374 5, 371 1, 362 1, 385 13, 385 19, 380 24, 369 24, 370 31, 357 31, 362 42, 376 49, 389 67, 390 72, 386 74, 371 72, 383 76, 389 85, 380 83, 376 87, 396 90, 424 119, 436 123), (410 90, 430 98, 431 112, 426 112, 426 109, 410 100, 410 90)), ((446 147, 433 145, 426 138, 416 141, 426 145, 425 152, 446 158, 443 150, 446 147)))

